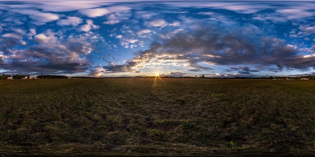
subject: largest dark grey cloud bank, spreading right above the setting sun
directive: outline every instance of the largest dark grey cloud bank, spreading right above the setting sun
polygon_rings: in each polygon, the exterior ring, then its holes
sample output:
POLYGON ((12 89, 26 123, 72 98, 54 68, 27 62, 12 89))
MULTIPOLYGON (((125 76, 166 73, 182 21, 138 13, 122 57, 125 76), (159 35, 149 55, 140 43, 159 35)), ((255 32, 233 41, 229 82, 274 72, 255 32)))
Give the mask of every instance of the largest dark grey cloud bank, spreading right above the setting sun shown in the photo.
MULTIPOLYGON (((278 72, 284 67, 315 68, 315 63, 310 61, 314 56, 305 58, 299 55, 296 47, 286 44, 282 39, 263 35, 262 30, 254 25, 234 26, 230 30, 224 25, 216 27, 199 23, 192 28, 189 32, 170 34, 169 38, 160 38, 160 42, 153 42, 150 49, 138 52, 130 60, 133 63, 131 66, 111 67, 110 70, 135 70, 136 65, 145 66, 156 61, 164 64, 166 60, 173 63, 184 62, 182 66, 192 72, 213 70, 203 64, 277 66, 278 72)), ((233 70, 242 70, 242 74, 260 71, 247 66, 233 70)))

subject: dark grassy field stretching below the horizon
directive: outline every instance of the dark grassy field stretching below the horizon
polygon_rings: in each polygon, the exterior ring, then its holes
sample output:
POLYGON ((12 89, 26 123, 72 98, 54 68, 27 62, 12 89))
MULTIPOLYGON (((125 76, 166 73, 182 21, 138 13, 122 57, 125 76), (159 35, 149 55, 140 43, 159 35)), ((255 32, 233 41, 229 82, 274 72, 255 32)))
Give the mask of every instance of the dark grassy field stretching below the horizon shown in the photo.
POLYGON ((0 80, 0 155, 314 154, 315 80, 0 80))

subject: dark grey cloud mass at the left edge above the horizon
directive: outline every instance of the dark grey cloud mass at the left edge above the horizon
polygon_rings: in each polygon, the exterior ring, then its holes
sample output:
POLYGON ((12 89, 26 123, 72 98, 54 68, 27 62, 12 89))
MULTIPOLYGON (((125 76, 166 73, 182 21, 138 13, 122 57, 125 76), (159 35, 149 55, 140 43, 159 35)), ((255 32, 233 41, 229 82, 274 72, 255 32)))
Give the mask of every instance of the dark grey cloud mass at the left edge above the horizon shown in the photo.
POLYGON ((26 36, 33 37, 27 47, 23 47, 20 37, 5 35, 0 39, 0 67, 8 73, 41 75, 87 72, 93 63, 90 55, 108 48, 99 34, 75 35, 62 29, 58 32, 46 30, 34 36, 36 30, 29 31, 25 33, 26 36), (30 45, 30 42, 33 44, 30 45))

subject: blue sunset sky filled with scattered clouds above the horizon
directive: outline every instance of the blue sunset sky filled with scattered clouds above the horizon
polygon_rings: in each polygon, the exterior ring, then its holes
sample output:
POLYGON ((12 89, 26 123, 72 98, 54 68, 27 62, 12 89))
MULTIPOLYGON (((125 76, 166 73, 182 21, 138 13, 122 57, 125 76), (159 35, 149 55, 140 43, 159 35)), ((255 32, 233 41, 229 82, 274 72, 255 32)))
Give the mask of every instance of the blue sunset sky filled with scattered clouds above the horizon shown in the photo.
POLYGON ((1 1, 1 73, 315 75, 315 2, 1 1))

